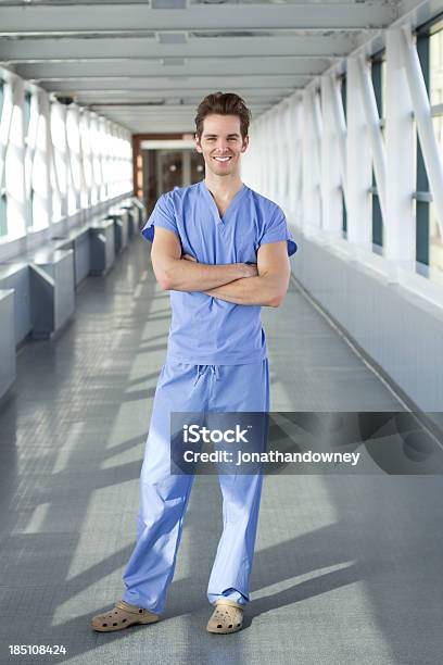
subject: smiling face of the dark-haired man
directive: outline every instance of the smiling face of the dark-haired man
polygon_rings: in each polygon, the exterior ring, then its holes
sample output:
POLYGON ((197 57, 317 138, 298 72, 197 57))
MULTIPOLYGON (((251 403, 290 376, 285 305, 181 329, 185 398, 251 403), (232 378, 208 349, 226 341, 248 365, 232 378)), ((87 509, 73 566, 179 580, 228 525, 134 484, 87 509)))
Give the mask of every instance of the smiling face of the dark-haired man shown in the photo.
POLYGON ((203 154, 206 173, 216 176, 237 175, 240 155, 248 148, 248 136, 242 138, 238 115, 206 115, 202 136, 195 135, 195 149, 203 154))

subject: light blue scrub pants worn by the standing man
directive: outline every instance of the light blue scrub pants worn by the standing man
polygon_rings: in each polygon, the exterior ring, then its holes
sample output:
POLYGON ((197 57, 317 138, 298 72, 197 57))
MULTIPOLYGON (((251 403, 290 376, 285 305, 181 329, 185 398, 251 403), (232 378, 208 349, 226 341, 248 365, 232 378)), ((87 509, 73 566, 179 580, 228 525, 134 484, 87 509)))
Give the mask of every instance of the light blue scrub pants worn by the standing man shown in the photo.
MULTIPOLYGON (((170 412, 268 412, 267 359, 245 365, 191 365, 166 361, 152 409, 140 476, 137 542, 123 575, 123 600, 162 614, 173 580, 185 513, 194 476, 170 474, 170 412)), ((249 600, 249 578, 263 473, 219 474, 223 535, 207 599, 249 600)))

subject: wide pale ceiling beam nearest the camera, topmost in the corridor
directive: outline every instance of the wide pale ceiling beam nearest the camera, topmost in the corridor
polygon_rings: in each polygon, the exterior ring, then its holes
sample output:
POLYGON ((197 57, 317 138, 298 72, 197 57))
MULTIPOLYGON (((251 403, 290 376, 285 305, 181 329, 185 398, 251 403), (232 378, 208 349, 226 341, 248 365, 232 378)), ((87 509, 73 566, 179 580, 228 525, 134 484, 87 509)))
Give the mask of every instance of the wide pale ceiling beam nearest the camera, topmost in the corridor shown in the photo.
POLYGON ((1 9, 1 35, 103 30, 328 29, 381 28, 397 17, 384 2, 192 5, 157 10, 144 4, 21 5, 1 9), (66 27, 68 26, 68 28, 66 27))

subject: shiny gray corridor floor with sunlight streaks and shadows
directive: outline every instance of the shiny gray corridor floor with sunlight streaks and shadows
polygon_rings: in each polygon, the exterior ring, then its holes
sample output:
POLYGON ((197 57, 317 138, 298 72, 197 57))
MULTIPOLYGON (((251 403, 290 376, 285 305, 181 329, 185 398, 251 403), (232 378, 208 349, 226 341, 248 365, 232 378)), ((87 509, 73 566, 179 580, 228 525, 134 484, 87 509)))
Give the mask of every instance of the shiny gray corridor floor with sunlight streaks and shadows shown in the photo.
MULTIPOLYGON (((267 476, 253 602, 231 636, 205 632, 221 511, 216 476, 198 476, 164 619, 90 630, 123 591, 168 319, 137 238, 84 283, 59 339, 18 355, 0 413, 0 663, 440 663, 440 476, 267 476), (9 656, 10 644, 66 655, 9 656)), ((263 321, 273 411, 402 409, 294 285, 263 321)))

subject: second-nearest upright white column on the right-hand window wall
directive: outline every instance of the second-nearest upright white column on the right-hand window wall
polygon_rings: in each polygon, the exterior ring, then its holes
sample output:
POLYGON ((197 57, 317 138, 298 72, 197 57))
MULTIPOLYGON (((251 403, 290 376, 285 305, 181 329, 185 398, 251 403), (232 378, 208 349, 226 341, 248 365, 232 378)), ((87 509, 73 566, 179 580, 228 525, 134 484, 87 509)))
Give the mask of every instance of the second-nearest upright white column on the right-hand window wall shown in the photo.
POLYGON ((359 88, 358 62, 347 59, 347 240, 352 256, 358 250, 371 249, 371 216, 369 187, 371 186, 371 160, 368 133, 359 88))

